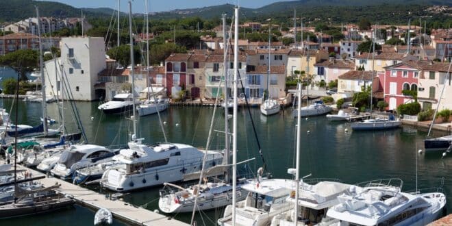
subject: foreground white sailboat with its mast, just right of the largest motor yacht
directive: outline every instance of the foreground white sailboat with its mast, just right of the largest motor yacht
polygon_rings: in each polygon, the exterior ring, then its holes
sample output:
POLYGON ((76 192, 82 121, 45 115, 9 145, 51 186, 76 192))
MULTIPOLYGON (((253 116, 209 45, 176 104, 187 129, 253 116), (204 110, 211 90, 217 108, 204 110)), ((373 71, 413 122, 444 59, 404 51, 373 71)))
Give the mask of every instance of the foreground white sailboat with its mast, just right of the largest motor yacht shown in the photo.
MULTIPOLYGON (((225 15, 223 15, 223 27, 225 27, 225 15)), ((225 32, 225 29, 223 29, 225 32)), ((223 37, 227 37, 224 35, 223 37)), ((226 42, 225 42, 226 43, 226 42)), ((225 45, 223 64, 226 64, 227 53, 229 46, 225 45)), ((227 67, 224 67, 225 73, 225 96, 228 95, 228 77, 227 67)), ((218 99, 217 99, 218 100, 218 99)), ((210 127, 210 135, 212 134, 212 127, 214 124, 213 118, 216 115, 216 104, 214 112, 212 113, 212 125, 210 127)), ((223 163, 207 170, 203 170, 201 173, 192 173, 184 176, 184 180, 199 179, 199 184, 195 184, 188 188, 182 188, 175 184, 165 183, 164 189, 160 190, 159 208, 165 213, 179 213, 179 212, 192 212, 194 216, 194 210, 210 210, 232 203, 232 185, 229 183, 229 177, 227 171, 231 168, 229 164, 229 115, 227 108, 225 108, 225 151, 223 155, 223 163), (223 180, 220 180, 214 176, 225 175, 223 180), (209 179, 210 178, 210 179, 209 179), (201 183, 203 181, 203 183, 201 183), (173 188, 178 191, 175 192, 173 188)), ((210 137, 206 148, 210 146, 210 137)), ((251 159, 252 160, 252 159, 251 159)), ((249 160, 247 160, 249 161, 249 160)), ((244 161, 244 162, 247 162, 244 161)), ((205 161, 203 162, 203 168, 205 168, 205 161)), ((242 192, 240 186, 247 183, 247 179, 242 178, 239 181, 239 187, 236 191, 236 197, 238 201, 241 201, 247 197, 247 192, 242 192)))

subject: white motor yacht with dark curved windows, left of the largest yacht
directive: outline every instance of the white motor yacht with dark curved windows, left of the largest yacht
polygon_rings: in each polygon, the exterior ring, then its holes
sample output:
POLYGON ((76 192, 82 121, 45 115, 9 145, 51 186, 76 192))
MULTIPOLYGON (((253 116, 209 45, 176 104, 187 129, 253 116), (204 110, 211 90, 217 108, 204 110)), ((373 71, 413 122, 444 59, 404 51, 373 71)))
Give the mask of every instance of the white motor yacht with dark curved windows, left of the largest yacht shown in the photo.
POLYGON ((103 146, 73 145, 68 151, 63 151, 50 173, 62 179, 68 179, 77 169, 107 162, 113 155, 114 151, 103 146))

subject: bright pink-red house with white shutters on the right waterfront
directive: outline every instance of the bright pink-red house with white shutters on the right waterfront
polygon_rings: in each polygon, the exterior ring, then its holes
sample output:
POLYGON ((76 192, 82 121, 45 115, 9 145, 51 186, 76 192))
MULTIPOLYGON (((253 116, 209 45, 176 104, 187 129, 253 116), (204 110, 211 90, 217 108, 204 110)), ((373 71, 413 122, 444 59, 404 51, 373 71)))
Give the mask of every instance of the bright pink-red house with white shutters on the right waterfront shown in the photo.
POLYGON ((403 90, 418 90, 420 70, 417 63, 401 62, 386 66, 384 69, 384 101, 389 104, 388 110, 394 110, 403 103, 414 101, 411 96, 403 95, 403 90))

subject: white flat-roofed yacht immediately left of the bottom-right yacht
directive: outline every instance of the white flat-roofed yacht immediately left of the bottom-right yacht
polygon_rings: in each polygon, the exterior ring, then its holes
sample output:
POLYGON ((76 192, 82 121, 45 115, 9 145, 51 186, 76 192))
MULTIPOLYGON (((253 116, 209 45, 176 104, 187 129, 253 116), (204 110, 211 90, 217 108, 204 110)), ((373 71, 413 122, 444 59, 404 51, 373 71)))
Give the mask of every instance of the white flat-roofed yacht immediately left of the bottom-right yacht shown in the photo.
MULTIPOLYGON (((297 225, 316 225, 329 221, 325 219, 328 208, 339 203, 337 197, 348 192, 350 184, 339 181, 310 179, 299 184, 299 214, 297 225), (313 183, 314 182, 314 183, 313 183)), ((287 199, 290 203, 296 203, 294 192, 287 199)), ((294 210, 289 210, 273 218, 272 226, 294 225, 294 210)))

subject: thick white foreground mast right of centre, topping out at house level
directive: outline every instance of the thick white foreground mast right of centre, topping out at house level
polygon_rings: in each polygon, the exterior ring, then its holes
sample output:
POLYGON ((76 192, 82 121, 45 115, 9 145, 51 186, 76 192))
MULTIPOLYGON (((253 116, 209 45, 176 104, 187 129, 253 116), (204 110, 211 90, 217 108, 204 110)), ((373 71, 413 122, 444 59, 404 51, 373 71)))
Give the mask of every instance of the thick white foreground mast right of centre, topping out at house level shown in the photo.
MULTIPOLYGON (((301 100, 301 81, 298 84, 298 99, 301 100)), ((299 180, 300 180, 300 140, 301 140, 301 104, 297 107, 297 160, 295 160, 295 211, 294 211, 294 225, 298 221, 298 198, 299 198, 299 180)))

